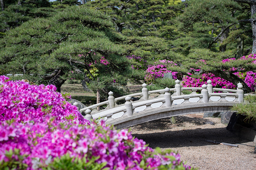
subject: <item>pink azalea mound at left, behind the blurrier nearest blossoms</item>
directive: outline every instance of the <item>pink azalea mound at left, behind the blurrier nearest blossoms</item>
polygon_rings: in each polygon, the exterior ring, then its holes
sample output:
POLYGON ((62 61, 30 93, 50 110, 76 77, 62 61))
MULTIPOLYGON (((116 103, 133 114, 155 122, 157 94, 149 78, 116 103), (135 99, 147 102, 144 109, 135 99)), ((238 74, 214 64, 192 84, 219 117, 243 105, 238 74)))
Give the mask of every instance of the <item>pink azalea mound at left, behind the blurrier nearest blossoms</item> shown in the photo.
POLYGON ((17 122, 29 122, 37 119, 43 122, 45 115, 49 114, 56 120, 76 117, 80 123, 88 123, 75 106, 56 92, 53 85, 30 85, 25 81, 9 81, 8 77, 0 76, 0 89, 0 121, 15 119, 17 122))

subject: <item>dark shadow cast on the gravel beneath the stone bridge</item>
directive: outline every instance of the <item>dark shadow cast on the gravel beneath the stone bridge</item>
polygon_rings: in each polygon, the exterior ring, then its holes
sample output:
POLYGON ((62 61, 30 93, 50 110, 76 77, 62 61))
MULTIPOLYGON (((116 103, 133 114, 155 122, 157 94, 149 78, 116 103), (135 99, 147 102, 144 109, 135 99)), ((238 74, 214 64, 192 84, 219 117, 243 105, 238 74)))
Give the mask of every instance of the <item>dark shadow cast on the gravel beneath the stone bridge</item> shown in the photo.
POLYGON ((143 129, 144 134, 133 134, 134 137, 138 139, 143 139, 149 147, 155 148, 178 148, 178 147, 189 147, 189 146, 205 146, 212 145, 213 143, 206 142, 205 140, 220 141, 226 143, 244 143, 249 142, 248 140, 236 137, 232 132, 226 130, 225 127, 222 128, 204 128, 201 129, 202 125, 207 119, 202 118, 190 118, 182 117, 176 118, 178 124, 170 124, 170 119, 159 119, 155 121, 146 122, 143 124, 135 125, 131 128, 133 129, 143 129), (190 120, 191 119, 191 120, 190 120), (198 125, 197 129, 191 130, 178 130, 172 131, 173 126, 183 126, 183 122, 189 121, 190 123, 193 119, 193 124, 198 125), (183 122, 182 122, 183 120, 183 122), (154 130, 165 130, 163 132, 155 132, 154 130))

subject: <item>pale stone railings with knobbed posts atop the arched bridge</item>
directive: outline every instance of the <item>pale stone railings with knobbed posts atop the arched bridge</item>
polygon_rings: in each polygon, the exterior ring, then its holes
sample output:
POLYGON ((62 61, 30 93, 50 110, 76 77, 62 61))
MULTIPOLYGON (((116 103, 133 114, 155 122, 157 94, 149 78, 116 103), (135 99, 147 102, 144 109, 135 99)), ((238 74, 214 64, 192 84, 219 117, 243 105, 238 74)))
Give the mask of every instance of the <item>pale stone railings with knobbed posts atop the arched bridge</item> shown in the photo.
MULTIPOLYGON (((137 107, 146 106, 146 108, 142 111, 147 111, 154 109, 151 107, 152 104, 162 102, 159 106, 160 108, 166 108, 166 107, 175 107, 176 104, 173 104, 174 100, 183 99, 184 101, 181 102, 178 105, 184 105, 184 104, 191 104, 191 103, 214 103, 216 101, 212 101, 211 97, 220 97, 220 99, 217 102, 227 102, 226 97, 234 98, 233 101, 229 102, 236 102, 236 103, 243 103, 244 102, 244 91, 242 90, 243 86, 238 83, 237 90, 232 89, 220 89, 220 88, 212 88, 212 81, 208 80, 207 85, 202 85, 202 87, 183 87, 180 86, 180 80, 176 80, 175 88, 169 89, 166 87, 162 90, 152 90, 148 91, 147 84, 142 85, 142 92, 136 93, 136 94, 130 94, 123 97, 114 98, 113 92, 109 92, 108 100, 105 102, 101 102, 99 104, 94 104, 89 107, 85 107, 80 109, 80 112, 85 111, 86 119, 91 119, 92 117, 94 119, 97 119, 99 117, 107 117, 107 122, 111 122, 114 119, 112 118, 113 114, 123 112, 122 117, 131 117, 137 112, 134 110, 137 107), (184 95, 182 94, 183 90, 192 90, 191 94, 184 95), (196 91, 201 91, 201 94, 197 94, 196 91), (170 94, 170 92, 174 92, 174 94, 170 94), (214 91, 222 91, 222 93, 213 93, 214 91), (223 93, 226 92, 226 93, 223 93), (229 93, 231 92, 231 93, 229 93), (150 94, 153 93, 160 93, 158 97, 151 98, 149 97, 150 94), (141 96, 139 101, 131 101, 131 97, 135 96, 141 96), (189 101, 190 98, 199 98, 196 102, 189 101), (119 100, 126 100, 125 104, 117 105, 116 102, 119 100), (104 110, 97 111, 96 108, 102 105, 107 105, 107 107, 104 110)), ((141 112, 141 111, 140 111, 141 112)))

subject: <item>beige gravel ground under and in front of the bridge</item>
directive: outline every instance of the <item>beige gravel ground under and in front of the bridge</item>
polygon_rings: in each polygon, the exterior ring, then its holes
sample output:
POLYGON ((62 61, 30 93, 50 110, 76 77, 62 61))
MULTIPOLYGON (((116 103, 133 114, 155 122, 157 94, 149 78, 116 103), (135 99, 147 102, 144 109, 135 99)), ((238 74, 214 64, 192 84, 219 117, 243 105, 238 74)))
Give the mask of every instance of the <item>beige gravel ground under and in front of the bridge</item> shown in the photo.
POLYGON ((203 114, 188 114, 159 119, 130 127, 133 136, 143 139, 151 148, 178 151, 183 161, 199 170, 256 170, 254 143, 226 130, 220 118, 203 118, 203 114), (215 125, 204 124, 212 121, 215 125), (236 143, 238 148, 213 144, 205 140, 236 143))

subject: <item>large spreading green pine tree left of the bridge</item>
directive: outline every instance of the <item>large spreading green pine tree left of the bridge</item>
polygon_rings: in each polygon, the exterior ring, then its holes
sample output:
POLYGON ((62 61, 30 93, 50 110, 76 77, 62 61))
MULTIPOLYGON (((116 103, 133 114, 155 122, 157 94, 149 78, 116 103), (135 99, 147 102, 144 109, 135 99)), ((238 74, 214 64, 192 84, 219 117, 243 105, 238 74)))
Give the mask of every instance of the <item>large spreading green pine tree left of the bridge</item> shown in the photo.
POLYGON ((95 60, 99 63, 101 56, 110 65, 105 68, 95 63, 95 66, 102 76, 113 80, 118 75, 136 74, 129 71, 126 55, 154 56, 166 51, 163 39, 126 37, 111 27, 113 22, 108 15, 79 6, 48 19, 29 20, 6 32, 1 39, 1 69, 23 73, 35 83, 54 84, 60 91, 70 72, 80 75, 85 88, 86 83, 95 82, 89 66, 95 60))

